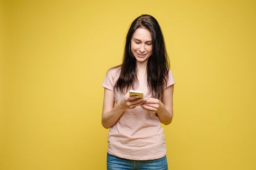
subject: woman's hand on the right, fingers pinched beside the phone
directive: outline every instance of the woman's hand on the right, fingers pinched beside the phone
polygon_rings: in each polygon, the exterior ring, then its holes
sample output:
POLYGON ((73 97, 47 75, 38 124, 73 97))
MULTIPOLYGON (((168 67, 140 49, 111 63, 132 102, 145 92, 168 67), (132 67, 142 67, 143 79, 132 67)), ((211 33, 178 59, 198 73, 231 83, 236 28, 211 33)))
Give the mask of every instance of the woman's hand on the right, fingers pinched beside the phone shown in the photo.
POLYGON ((140 106, 145 111, 156 113, 162 109, 163 103, 155 98, 147 98, 147 101, 140 106))

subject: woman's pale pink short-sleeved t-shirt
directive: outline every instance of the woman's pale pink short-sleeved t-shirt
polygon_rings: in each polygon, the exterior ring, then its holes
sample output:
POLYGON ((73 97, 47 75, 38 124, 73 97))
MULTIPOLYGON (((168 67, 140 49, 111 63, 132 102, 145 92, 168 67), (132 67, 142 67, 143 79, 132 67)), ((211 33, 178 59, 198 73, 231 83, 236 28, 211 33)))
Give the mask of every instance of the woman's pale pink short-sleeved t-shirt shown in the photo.
MULTIPOLYGON (((114 90, 120 75, 120 67, 109 70, 102 86, 114 91, 117 103, 122 94, 114 90)), ((147 77, 138 80, 136 89, 143 91, 147 98, 152 97, 147 88, 147 77)), ((175 84, 173 74, 169 70, 167 86, 175 84)), ((140 106, 126 109, 117 123, 110 127, 108 133, 108 153, 132 160, 152 160, 166 155, 163 128, 156 113, 149 113, 140 106)))

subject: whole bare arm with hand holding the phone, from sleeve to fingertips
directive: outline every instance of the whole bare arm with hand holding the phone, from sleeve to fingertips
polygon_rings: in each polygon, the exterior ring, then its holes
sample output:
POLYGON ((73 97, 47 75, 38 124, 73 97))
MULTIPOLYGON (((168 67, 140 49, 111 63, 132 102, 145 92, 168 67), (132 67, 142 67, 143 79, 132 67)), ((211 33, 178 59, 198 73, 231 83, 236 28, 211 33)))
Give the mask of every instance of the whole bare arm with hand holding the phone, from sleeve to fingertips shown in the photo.
POLYGON ((126 93, 120 101, 115 105, 115 94, 112 90, 105 88, 104 101, 102 109, 101 124, 104 128, 108 129, 117 123, 118 119, 122 116, 126 109, 135 108, 145 102, 145 99, 137 99, 138 96, 131 96, 126 93))

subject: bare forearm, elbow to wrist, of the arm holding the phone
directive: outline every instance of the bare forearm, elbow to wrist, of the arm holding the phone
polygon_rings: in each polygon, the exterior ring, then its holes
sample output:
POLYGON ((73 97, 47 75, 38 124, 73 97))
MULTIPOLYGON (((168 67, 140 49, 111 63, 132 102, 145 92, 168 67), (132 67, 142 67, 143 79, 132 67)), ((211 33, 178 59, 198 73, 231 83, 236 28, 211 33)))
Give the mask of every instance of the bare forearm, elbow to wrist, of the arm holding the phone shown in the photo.
POLYGON ((124 108, 122 108, 119 104, 116 104, 116 106, 112 110, 102 114, 102 126, 106 129, 112 127, 114 124, 117 123, 118 119, 122 116, 124 111, 124 108))

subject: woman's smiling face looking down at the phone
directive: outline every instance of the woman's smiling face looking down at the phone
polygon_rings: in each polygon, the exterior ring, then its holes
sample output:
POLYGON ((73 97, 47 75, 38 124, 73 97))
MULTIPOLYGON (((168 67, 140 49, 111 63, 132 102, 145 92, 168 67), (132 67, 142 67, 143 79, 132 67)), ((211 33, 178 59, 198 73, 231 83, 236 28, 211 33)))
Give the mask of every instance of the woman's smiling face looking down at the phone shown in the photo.
POLYGON ((131 50, 137 63, 148 61, 153 51, 152 36, 148 29, 138 28, 131 38, 131 50))

